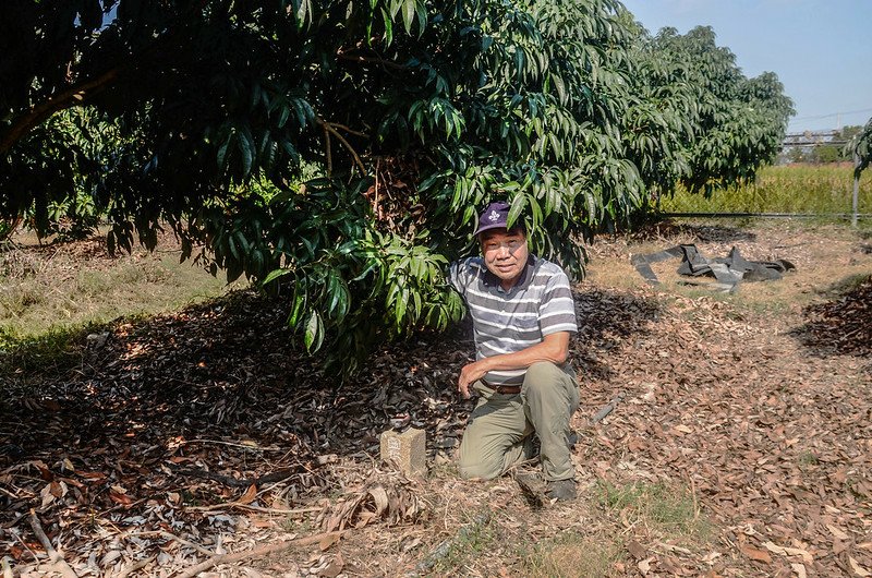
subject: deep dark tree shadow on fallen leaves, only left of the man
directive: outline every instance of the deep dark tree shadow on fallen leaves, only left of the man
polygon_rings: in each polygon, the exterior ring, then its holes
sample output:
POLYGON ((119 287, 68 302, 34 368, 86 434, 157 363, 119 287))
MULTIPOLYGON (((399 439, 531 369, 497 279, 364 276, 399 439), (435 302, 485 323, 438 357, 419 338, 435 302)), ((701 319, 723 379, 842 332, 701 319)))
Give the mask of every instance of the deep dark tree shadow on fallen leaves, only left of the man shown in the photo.
POLYGON ((239 292, 110 324, 99 346, 76 335, 77 354, 65 352, 7 388, 0 421, 10 426, 0 445, 13 444, 29 457, 106 447, 125 436, 161 446, 194 437, 252 438, 298 454, 337 453, 342 442, 351 453, 372 449, 373 435, 393 413, 421 395, 438 397, 446 361, 457 365, 471 353, 458 330, 424 336, 384 348, 367 371, 341 383, 292 344, 287 313, 281 300, 239 292), (37 422, 45 435, 33 435, 37 422))

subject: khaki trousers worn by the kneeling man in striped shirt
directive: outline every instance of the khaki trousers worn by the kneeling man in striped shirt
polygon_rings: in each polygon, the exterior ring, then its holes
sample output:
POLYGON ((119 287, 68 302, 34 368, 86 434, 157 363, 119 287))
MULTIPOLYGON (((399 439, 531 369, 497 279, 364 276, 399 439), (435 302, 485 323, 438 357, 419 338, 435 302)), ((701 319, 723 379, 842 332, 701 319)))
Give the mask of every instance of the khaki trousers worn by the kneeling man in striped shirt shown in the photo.
POLYGON ((534 363, 526 370, 520 394, 497 394, 481 382, 473 388, 481 397, 460 444, 458 469, 462 478, 489 480, 530 459, 533 433, 541 442, 545 479, 574 477, 569 420, 579 407, 579 387, 571 369, 534 363))

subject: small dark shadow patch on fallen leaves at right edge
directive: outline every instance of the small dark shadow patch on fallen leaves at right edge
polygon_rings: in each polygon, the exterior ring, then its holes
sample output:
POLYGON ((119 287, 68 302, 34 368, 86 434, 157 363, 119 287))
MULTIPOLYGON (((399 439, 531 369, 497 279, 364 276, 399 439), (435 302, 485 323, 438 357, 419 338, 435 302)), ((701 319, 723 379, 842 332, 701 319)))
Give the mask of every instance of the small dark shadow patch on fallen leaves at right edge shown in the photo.
POLYGON ((820 358, 872 358, 872 276, 846 277, 827 293, 833 299, 806 306, 806 323, 790 335, 820 358))

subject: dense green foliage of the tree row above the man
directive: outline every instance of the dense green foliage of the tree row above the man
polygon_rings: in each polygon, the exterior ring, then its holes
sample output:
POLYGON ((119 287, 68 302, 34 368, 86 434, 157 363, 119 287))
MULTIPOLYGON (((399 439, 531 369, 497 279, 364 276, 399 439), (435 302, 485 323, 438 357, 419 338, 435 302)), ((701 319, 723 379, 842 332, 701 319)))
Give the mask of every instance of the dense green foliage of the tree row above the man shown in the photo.
POLYGON ((461 315, 445 265, 488 200, 581 276, 576 240, 752 179, 791 113, 710 28, 652 37, 616 0, 10 0, 0 23, 1 217, 90 207, 122 248, 170 227, 292 288, 347 368, 461 315))

